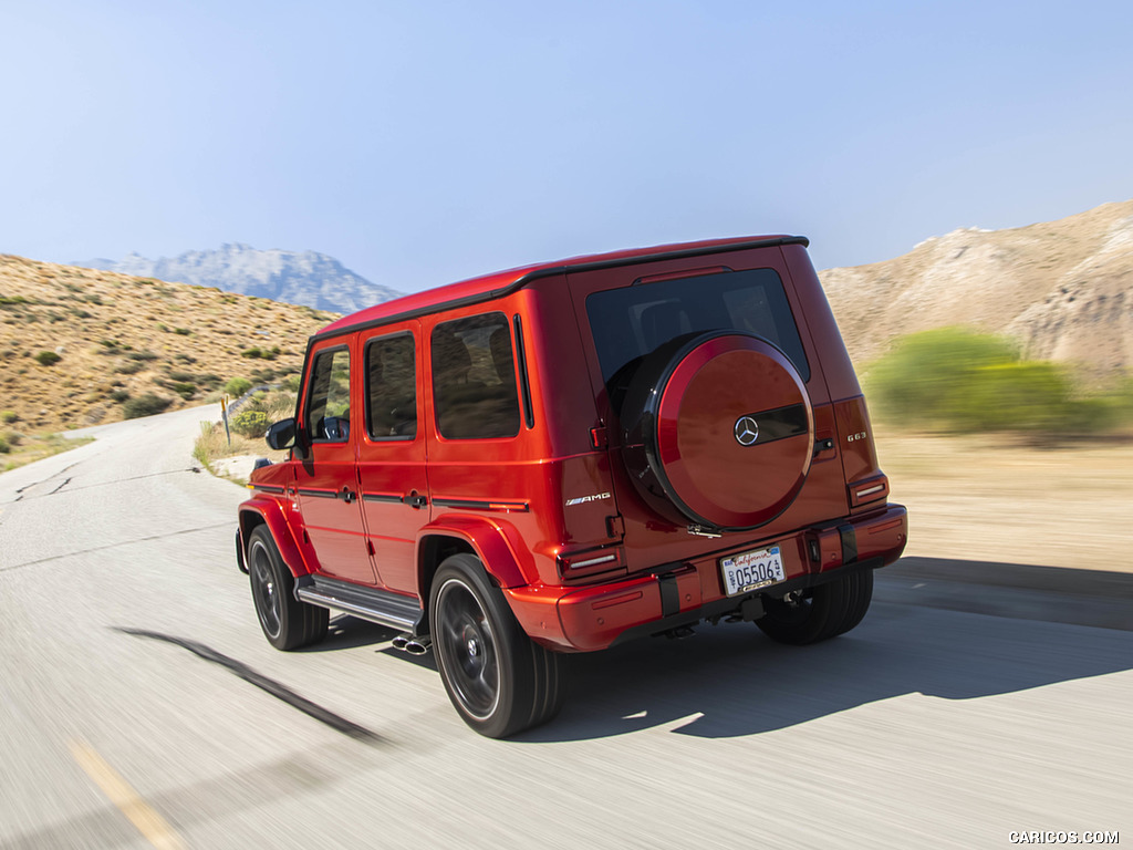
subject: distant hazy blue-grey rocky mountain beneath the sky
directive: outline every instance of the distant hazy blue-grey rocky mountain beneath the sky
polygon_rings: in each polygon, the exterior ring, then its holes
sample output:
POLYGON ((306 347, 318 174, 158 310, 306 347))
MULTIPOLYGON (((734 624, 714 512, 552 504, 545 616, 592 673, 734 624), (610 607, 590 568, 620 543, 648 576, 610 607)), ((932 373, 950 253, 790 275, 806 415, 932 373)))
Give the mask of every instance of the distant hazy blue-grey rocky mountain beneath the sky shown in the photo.
POLYGON ((173 258, 147 260, 130 254, 117 262, 91 260, 76 265, 137 278, 216 287, 225 292, 301 304, 332 313, 353 313, 403 295, 370 283, 325 254, 258 250, 239 243, 222 245, 219 250, 189 250, 173 258))

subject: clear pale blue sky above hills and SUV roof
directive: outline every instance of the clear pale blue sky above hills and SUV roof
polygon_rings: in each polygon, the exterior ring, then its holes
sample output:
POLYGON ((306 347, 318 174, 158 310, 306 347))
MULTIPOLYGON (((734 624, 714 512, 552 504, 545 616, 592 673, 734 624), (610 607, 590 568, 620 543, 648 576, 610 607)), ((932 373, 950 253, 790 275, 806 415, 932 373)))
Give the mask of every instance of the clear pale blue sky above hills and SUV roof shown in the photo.
POLYGON ((1133 3, 8 2, 0 253, 314 249, 407 291, 1133 197, 1133 3))

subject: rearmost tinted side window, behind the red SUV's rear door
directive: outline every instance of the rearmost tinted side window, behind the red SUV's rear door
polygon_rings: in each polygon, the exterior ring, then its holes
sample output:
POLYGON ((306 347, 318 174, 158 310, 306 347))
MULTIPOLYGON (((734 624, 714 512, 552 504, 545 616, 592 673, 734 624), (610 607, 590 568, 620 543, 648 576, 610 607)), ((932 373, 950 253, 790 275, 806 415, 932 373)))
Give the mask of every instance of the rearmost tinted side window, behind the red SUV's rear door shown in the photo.
POLYGON ((457 318, 433 329, 436 427, 449 440, 519 433, 511 330, 503 313, 457 318))

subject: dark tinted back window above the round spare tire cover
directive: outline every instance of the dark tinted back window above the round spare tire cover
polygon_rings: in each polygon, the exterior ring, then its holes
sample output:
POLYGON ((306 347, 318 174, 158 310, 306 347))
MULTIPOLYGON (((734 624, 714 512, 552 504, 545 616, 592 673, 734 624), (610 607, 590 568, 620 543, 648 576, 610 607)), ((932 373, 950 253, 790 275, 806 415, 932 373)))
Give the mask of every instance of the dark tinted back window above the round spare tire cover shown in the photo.
POLYGON ((781 348, 810 380, 810 364, 773 269, 678 278, 594 292, 586 299, 602 379, 615 410, 641 359, 687 333, 738 330, 781 348))

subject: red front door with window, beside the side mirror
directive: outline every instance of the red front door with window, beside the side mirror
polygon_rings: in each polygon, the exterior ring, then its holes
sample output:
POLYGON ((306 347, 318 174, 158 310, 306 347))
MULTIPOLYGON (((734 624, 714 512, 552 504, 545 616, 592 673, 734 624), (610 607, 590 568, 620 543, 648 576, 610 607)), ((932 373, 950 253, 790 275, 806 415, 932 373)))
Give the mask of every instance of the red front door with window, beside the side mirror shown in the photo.
MULTIPOLYGON (((310 352, 300 413, 305 457, 296 465, 299 512, 320 572, 376 584, 358 500, 358 428, 351 427, 351 343, 327 340, 310 352)), ((352 406, 355 410, 358 405, 352 406)), ((355 416, 356 420, 361 419, 355 416)))

